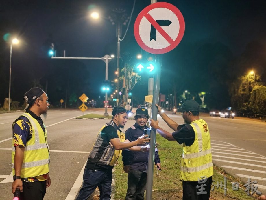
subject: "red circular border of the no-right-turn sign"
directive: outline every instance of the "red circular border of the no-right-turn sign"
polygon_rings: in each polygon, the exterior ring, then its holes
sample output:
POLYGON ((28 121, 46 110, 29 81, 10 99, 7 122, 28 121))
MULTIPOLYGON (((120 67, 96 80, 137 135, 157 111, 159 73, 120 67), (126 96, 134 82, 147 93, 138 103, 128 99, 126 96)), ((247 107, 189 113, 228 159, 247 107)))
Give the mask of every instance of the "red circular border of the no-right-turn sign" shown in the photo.
MULTIPOLYGON (((136 21, 135 21, 135 24, 134 24, 134 35, 135 35, 135 39, 136 39, 138 45, 142 49, 144 49, 145 51, 147 51, 149 53, 152 53, 152 54, 163 54, 163 53, 167 53, 167 52, 173 50, 174 48, 176 48, 176 46, 180 43, 181 39, 183 38, 184 32, 185 32, 185 21, 184 21, 184 17, 182 15, 182 13, 180 12, 180 10, 178 10, 178 8, 176 8, 176 6, 174 6, 174 5, 170 4, 170 3, 166 3, 166 2, 153 3, 153 4, 149 5, 149 6, 147 6, 146 8, 144 8, 138 14, 138 17, 136 18, 136 21), (139 26, 140 26, 141 20, 143 19, 143 17, 146 17, 146 15, 149 15, 148 12, 150 10, 154 9, 154 8, 167 8, 168 10, 171 10, 176 15, 176 17, 177 17, 177 19, 179 21, 178 36, 176 37, 175 40, 172 40, 171 43, 169 42, 170 43, 169 46, 167 46, 165 48, 162 48, 162 49, 153 49, 153 48, 147 46, 142 41, 142 39, 140 37, 140 34, 139 34, 139 26)), ((166 32, 165 32, 164 35, 170 37, 166 32)), ((163 37, 164 37, 164 35, 162 34, 163 37)))

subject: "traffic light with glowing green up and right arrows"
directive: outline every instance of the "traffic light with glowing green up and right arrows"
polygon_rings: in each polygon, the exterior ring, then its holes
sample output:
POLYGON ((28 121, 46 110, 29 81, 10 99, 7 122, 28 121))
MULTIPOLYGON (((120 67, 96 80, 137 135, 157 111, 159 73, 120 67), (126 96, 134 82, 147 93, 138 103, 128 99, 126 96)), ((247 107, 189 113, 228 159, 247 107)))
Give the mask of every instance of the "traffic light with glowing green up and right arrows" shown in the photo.
POLYGON ((146 59, 142 59, 140 63, 136 64, 138 72, 154 73, 156 71, 155 54, 148 54, 146 59))

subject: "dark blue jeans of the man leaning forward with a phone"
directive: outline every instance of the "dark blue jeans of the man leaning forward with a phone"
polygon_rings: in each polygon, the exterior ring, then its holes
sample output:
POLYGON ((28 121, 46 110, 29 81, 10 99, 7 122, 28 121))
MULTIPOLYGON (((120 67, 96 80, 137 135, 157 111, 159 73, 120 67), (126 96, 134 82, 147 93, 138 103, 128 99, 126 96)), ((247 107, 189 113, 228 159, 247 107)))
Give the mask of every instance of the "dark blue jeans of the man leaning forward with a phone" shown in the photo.
POLYGON ((99 187, 100 200, 110 200, 112 193, 112 170, 84 170, 83 183, 76 200, 87 200, 99 187))

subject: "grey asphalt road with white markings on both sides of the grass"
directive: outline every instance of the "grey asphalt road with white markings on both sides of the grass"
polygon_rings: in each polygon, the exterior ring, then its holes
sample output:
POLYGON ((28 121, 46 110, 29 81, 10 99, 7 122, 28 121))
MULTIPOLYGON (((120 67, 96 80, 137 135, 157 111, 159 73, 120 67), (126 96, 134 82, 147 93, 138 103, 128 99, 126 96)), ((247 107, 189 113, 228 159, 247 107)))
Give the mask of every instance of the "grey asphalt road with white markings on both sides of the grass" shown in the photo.
MULTIPOLYGON (((12 122, 20 113, 0 114, 0 199, 12 199, 11 185, 11 137, 12 122)), ((104 109, 88 109, 84 114, 103 114, 104 109)), ((108 109, 111 113, 111 109, 108 109)), ((180 114, 170 117, 183 123, 180 114)), ((82 183, 84 164, 93 146, 99 128, 108 120, 75 119, 82 115, 79 110, 49 110, 44 123, 48 130, 51 154, 51 186, 44 199, 75 199, 82 183)), ((265 194, 266 182, 266 123, 247 118, 225 119, 202 116, 210 129, 213 163, 222 166, 230 174, 246 182, 256 180, 258 190, 265 194)), ((160 126, 171 129, 158 116, 160 126)), ((125 129, 135 123, 128 120, 125 129)))

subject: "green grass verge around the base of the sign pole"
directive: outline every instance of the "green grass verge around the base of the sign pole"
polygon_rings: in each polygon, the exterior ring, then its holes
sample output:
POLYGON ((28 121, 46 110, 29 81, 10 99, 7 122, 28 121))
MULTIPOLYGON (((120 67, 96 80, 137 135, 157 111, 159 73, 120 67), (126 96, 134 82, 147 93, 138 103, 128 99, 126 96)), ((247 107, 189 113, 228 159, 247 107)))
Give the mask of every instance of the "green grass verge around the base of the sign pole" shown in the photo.
MULTIPOLYGON (((158 171, 158 175, 156 175, 156 168, 154 168, 152 199, 182 199, 182 181, 180 181, 182 146, 177 142, 167 141, 158 134, 156 135, 156 141, 158 143, 162 171, 158 171)), ((214 166, 213 184, 216 185, 217 181, 218 183, 220 183, 220 181, 224 183, 224 176, 227 177, 226 196, 224 195, 224 187, 216 188, 216 186, 214 186, 214 190, 210 193, 211 199, 255 199, 253 196, 247 195, 247 192, 244 191, 245 187, 243 187, 239 179, 226 174, 222 168, 214 166), (232 182, 239 182, 238 190, 232 189, 232 182)), ((121 158, 119 158, 114 167, 113 178, 115 178, 115 191, 113 191, 115 193, 114 199, 125 199, 128 174, 123 171, 123 162, 121 158)))

